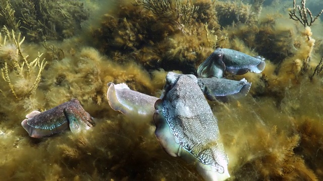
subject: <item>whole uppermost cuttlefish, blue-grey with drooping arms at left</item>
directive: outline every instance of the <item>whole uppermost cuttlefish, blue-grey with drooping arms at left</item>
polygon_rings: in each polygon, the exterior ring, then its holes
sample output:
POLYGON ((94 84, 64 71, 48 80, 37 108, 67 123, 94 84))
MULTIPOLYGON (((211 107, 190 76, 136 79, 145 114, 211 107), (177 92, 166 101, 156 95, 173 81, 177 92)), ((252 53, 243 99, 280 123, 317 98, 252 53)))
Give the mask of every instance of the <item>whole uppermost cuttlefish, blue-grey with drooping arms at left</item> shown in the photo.
POLYGON ((225 71, 235 75, 248 71, 260 73, 265 67, 263 60, 260 56, 252 57, 236 50, 218 48, 199 65, 197 75, 204 78, 222 78, 225 71))

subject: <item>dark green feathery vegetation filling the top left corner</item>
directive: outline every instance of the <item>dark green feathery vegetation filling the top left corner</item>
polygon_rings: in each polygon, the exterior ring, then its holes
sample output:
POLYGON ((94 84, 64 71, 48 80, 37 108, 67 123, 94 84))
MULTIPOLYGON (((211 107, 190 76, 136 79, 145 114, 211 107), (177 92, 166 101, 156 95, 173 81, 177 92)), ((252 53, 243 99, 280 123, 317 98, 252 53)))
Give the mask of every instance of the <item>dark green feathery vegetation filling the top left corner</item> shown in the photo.
POLYGON ((72 37, 89 16, 81 1, 1 0, 0 5, 0 27, 20 31, 29 41, 72 37))

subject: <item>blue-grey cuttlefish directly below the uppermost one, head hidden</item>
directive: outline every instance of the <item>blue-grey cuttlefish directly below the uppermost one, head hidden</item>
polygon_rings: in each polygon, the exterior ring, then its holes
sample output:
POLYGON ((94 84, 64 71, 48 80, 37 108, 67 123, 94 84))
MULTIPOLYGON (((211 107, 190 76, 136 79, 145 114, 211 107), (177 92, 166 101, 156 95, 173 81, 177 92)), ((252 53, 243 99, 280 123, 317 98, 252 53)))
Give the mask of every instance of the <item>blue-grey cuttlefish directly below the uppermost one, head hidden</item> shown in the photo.
POLYGON ((239 81, 217 77, 198 78, 198 85, 209 101, 230 95, 240 98, 246 96, 251 87, 251 83, 245 78, 239 81))

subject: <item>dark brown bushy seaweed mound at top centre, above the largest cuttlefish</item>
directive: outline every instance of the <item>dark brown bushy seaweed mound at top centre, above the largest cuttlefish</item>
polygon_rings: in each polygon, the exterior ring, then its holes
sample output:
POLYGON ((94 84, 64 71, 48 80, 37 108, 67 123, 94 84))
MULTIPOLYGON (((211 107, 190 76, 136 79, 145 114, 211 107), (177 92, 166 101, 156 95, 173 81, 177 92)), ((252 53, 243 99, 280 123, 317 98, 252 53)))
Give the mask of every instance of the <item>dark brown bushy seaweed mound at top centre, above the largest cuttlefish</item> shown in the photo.
POLYGON ((197 61, 217 46, 218 37, 225 39, 217 34, 216 17, 205 17, 214 14, 211 1, 176 1, 163 14, 138 4, 120 3, 126 11, 105 14, 100 25, 91 28, 93 46, 117 62, 135 59, 147 70, 158 67, 194 73, 197 61))

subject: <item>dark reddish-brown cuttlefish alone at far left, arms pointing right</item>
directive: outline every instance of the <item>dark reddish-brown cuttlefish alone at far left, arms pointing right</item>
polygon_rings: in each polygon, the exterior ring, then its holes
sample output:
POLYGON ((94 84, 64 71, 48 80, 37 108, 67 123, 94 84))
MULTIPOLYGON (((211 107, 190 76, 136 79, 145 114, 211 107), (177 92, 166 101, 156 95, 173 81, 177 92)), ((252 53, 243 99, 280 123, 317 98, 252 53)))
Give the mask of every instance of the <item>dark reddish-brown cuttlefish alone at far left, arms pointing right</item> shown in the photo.
POLYGON ((93 118, 77 99, 40 113, 32 111, 21 122, 30 137, 42 138, 70 129, 73 133, 93 127, 93 118))

